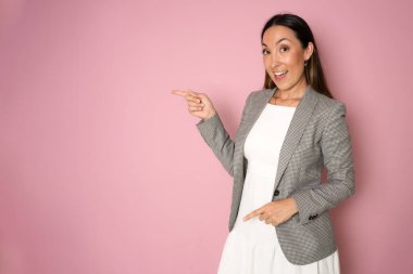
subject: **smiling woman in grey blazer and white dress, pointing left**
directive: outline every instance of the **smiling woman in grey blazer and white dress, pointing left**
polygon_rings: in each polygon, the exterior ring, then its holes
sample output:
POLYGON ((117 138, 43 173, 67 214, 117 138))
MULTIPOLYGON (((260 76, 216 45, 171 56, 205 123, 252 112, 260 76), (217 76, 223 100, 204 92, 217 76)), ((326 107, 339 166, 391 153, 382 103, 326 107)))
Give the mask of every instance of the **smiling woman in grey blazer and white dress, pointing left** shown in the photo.
POLYGON ((173 91, 234 177, 218 273, 339 273, 328 209, 354 193, 346 106, 328 91, 301 17, 273 16, 261 42, 264 89, 249 94, 234 140, 205 93, 173 91))

